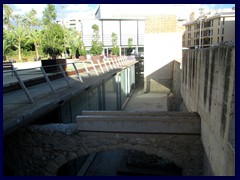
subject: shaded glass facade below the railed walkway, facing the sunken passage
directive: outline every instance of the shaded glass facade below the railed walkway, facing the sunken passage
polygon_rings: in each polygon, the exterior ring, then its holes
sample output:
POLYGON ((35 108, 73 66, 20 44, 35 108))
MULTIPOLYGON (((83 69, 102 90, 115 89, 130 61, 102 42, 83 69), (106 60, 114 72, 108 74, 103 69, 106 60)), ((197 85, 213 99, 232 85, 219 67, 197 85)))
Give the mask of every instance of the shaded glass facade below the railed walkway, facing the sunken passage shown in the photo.
MULTIPOLYGON (((70 119, 65 123, 75 122, 76 116, 84 110, 122 110, 130 94, 135 88, 135 65, 117 73, 101 85, 93 89, 86 89, 65 106, 70 106, 70 119)), ((65 112, 67 113, 67 112, 65 112)))

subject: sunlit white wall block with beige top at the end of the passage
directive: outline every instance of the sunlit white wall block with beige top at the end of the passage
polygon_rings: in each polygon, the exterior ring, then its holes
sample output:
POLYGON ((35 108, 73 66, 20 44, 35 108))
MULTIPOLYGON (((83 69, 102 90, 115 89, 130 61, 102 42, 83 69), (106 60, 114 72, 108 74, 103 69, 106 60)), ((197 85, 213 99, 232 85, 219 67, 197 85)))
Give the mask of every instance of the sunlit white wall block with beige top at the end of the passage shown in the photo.
POLYGON ((181 62, 182 33, 178 31, 175 16, 151 16, 145 22, 144 90, 169 93, 172 88, 172 61, 181 62))

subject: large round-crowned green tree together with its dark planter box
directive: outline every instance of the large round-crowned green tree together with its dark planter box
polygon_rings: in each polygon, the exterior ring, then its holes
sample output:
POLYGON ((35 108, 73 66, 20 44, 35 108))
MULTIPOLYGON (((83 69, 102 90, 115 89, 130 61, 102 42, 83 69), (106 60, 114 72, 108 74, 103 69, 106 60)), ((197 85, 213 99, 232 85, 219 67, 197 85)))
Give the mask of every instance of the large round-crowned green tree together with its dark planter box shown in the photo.
MULTIPOLYGON (((66 58, 59 58, 64 52, 64 32, 59 24, 51 24, 43 30, 42 48, 43 53, 49 57, 41 60, 43 67, 63 64, 62 67, 66 69, 66 58)), ((44 69, 47 73, 59 71, 57 66, 44 67, 44 69)))

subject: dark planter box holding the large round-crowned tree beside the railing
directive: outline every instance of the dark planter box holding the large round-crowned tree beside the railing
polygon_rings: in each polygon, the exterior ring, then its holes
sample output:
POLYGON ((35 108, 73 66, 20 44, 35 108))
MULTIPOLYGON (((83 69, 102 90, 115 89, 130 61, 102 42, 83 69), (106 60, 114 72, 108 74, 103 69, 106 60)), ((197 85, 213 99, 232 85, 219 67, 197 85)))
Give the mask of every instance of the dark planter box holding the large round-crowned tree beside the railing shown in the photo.
POLYGON ((42 67, 44 68, 46 73, 56 73, 60 72, 60 68, 56 65, 62 64, 62 68, 64 71, 67 70, 67 60, 66 59, 47 59, 41 60, 42 67), (53 66, 55 65, 55 66, 53 66), (50 67, 47 67, 50 66, 50 67))

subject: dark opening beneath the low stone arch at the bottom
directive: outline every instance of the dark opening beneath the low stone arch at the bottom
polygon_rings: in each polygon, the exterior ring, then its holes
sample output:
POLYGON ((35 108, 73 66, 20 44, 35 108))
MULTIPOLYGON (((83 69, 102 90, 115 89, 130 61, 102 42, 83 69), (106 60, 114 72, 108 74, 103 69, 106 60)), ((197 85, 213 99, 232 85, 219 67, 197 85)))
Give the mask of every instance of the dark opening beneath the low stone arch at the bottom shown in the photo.
POLYGON ((137 150, 92 153, 65 163, 57 176, 182 176, 170 160, 137 150))

